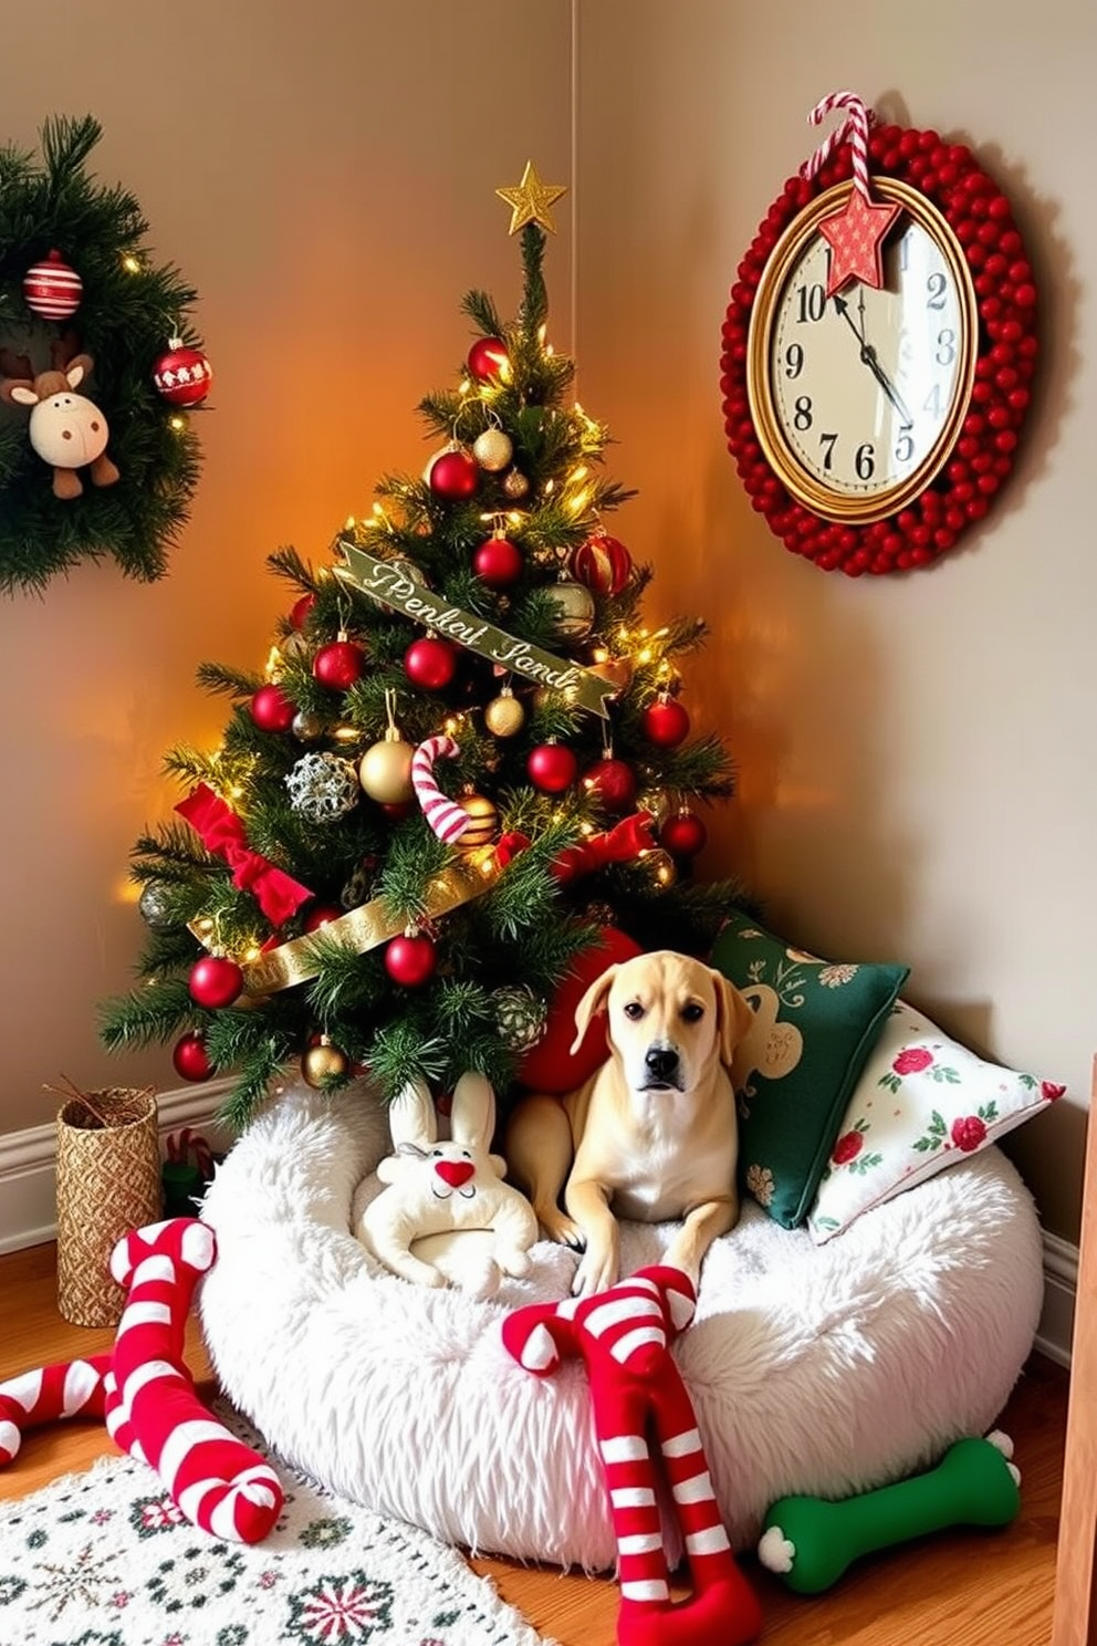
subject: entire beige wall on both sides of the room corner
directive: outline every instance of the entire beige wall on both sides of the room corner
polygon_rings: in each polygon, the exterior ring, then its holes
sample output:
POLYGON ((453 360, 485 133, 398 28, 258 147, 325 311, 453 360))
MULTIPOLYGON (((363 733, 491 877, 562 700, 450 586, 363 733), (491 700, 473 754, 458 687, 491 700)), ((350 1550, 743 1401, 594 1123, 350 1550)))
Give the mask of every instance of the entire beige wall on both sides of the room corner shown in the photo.
MULTIPOLYGON (((908 960, 911 996, 949 1029, 1069 1081, 1011 1147, 1071 1236, 1097 1044, 1092 8, 880 0, 839 25, 794 0, 574 10, 582 397, 641 487, 618 525, 661 573, 656 607, 712 624, 689 701, 742 767, 704 867, 742 871, 801 942, 908 960), (794 561, 750 512, 717 390, 735 263, 806 153, 808 109, 839 86, 979 146, 1031 242, 1046 341, 1025 456, 985 527, 931 573, 860 583, 794 561)), ((59 1068, 178 1083, 163 1053, 105 1058, 94 1032, 140 937, 128 846, 174 798, 163 751, 217 736, 201 658, 263 657, 285 601, 263 555, 322 558, 380 472, 421 463, 413 407, 464 354, 464 290, 516 295, 492 191, 526 156, 569 176, 571 13, 197 0, 181 21, 61 0, 5 18, 3 133, 99 115, 99 173, 138 193, 158 255, 202 293, 219 410, 163 584, 89 566, 0 604, 0 1132, 48 1118, 39 1085, 59 1068)))

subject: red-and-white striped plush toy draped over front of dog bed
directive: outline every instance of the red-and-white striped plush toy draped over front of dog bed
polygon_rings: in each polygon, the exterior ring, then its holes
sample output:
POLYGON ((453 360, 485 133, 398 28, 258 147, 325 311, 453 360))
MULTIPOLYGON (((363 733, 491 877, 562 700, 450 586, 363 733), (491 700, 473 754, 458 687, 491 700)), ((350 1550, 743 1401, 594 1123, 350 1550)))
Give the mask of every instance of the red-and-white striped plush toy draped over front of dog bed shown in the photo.
POLYGON ((551 1376, 581 1355, 617 1536, 620 1646, 742 1646, 761 1610, 735 1564, 712 1493, 692 1402, 669 1343, 692 1320, 689 1276, 663 1264, 640 1269, 595 1297, 531 1304, 503 1322, 520 1366, 551 1376), (683 1527, 692 1595, 671 1603, 660 1527, 655 1435, 683 1527))

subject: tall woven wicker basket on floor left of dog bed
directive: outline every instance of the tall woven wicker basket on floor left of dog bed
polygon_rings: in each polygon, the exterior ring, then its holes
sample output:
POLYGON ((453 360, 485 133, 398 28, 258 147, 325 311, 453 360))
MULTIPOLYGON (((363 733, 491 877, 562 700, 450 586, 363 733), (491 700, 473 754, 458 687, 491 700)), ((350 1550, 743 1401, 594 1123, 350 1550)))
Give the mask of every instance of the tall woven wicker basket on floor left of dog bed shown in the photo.
POLYGON ((125 1290, 110 1253, 163 1215, 156 1098, 127 1086, 89 1096, 110 1124, 76 1100, 58 1114, 58 1309, 76 1327, 113 1327, 125 1290))

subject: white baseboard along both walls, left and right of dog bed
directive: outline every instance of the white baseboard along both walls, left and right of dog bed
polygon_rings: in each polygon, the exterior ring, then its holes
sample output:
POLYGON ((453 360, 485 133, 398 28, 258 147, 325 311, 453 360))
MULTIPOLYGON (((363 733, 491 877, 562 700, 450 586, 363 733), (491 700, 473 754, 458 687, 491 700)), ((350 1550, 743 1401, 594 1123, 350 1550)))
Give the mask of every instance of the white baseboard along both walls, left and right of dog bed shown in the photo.
MULTIPOLYGON (((192 1126, 214 1146, 224 1146, 227 1139, 215 1136, 214 1113, 230 1086, 230 1080, 219 1080, 158 1093, 160 1136, 192 1126)), ((41 1246, 56 1236, 54 1159, 53 1126, 0 1134, 0 1253, 41 1246)), ((1077 1246, 1058 1234, 1044 1234, 1044 1307, 1036 1328, 1036 1348, 1059 1366, 1071 1365, 1076 1294, 1077 1246)))

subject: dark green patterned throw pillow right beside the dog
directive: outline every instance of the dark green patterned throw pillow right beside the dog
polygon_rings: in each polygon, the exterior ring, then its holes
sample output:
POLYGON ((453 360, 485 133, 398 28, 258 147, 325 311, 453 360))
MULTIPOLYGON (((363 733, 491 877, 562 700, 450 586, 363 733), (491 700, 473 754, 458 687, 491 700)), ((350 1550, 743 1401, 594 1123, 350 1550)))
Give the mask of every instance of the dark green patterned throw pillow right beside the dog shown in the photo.
POLYGON ((755 1012, 732 1065, 740 1183, 796 1228, 910 968, 819 960, 743 914, 722 928, 712 965, 755 1012))

